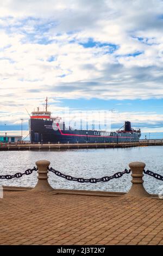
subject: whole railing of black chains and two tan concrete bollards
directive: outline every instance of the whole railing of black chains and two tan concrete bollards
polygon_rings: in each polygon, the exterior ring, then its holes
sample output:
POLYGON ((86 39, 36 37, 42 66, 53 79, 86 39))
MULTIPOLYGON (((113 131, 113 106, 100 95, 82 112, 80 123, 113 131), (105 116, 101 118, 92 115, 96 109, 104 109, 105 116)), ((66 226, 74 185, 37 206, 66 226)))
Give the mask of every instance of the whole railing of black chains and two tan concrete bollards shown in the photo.
MULTIPOLYGON (((49 168, 49 165, 51 162, 47 160, 39 160, 36 161, 36 166, 39 169, 38 171, 38 181, 37 184, 34 188, 32 188, 31 191, 37 191, 37 192, 50 192, 53 191, 54 188, 49 184, 48 182, 48 172, 52 172, 57 176, 60 176, 61 178, 64 178, 66 180, 70 181, 77 181, 80 183, 84 182, 90 182, 91 184, 95 184, 97 182, 107 182, 112 179, 118 179, 121 178, 124 174, 129 174, 131 172, 131 183, 132 186, 130 190, 124 194, 124 197, 137 197, 137 198, 142 198, 142 197, 151 197, 151 194, 149 194, 145 187, 143 186, 143 173, 148 174, 150 176, 153 176, 155 179, 162 180, 163 181, 163 176, 154 173, 150 170, 145 170, 146 164, 143 162, 131 162, 129 163, 129 170, 124 169, 123 172, 117 172, 115 174, 112 174, 111 176, 103 176, 102 178, 90 178, 90 179, 84 179, 84 178, 76 178, 71 175, 67 175, 64 173, 59 172, 58 170, 53 169, 52 167, 49 168)), ((24 171, 24 173, 16 173, 14 175, 1 175, 0 179, 12 179, 12 178, 21 178, 23 175, 29 175, 31 174, 34 170, 37 170, 36 167, 33 169, 27 169, 24 171)))

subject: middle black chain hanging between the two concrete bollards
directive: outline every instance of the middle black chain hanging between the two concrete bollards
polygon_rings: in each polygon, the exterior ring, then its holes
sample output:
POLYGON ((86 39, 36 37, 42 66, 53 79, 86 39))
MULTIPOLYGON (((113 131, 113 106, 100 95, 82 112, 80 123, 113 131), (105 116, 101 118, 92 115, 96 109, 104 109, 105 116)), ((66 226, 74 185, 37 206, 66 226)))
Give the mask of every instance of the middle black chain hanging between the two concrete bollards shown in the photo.
POLYGON ((122 177, 123 174, 125 173, 130 173, 131 170, 125 169, 123 172, 117 172, 114 175, 111 176, 104 176, 102 178, 96 179, 96 178, 91 178, 91 179, 84 179, 84 178, 75 178, 70 175, 63 174, 59 172, 58 170, 53 169, 52 167, 48 169, 49 172, 55 173, 57 176, 60 176, 61 178, 65 178, 66 180, 72 180, 72 181, 78 181, 80 183, 84 182, 90 182, 90 183, 97 183, 97 182, 106 182, 112 179, 117 179, 122 177))

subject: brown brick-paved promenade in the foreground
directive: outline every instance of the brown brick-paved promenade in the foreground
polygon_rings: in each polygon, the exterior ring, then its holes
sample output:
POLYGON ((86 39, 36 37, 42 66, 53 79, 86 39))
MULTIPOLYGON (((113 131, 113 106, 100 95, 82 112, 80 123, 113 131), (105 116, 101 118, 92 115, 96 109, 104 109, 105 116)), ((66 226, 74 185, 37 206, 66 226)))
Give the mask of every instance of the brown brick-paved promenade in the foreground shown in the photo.
POLYGON ((1 245, 163 245, 163 200, 4 192, 1 245))

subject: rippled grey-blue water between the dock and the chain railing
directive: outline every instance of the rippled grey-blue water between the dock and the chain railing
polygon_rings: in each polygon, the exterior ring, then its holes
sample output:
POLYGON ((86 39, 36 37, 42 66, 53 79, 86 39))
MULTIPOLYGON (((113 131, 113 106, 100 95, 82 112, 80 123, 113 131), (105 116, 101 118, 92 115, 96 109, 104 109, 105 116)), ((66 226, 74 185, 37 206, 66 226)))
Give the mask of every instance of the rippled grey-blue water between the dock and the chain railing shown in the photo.
MULTIPOLYGON (((141 161, 146 163, 146 168, 163 175, 163 147, 137 147, 115 149, 84 149, 66 151, 0 151, 0 174, 14 174, 33 168, 37 160, 49 160, 54 169, 62 173, 83 177, 101 178, 112 175, 128 168, 128 163, 141 161)), ((34 172, 24 175, 20 179, 0 180, 0 185, 34 187, 37 178, 34 172)), ((159 193, 163 182, 145 175, 144 186, 149 193, 159 193)), ((74 190, 119 191, 127 192, 131 186, 130 174, 124 174, 119 179, 96 184, 80 184, 68 181, 49 173, 49 183, 53 188, 74 190)))

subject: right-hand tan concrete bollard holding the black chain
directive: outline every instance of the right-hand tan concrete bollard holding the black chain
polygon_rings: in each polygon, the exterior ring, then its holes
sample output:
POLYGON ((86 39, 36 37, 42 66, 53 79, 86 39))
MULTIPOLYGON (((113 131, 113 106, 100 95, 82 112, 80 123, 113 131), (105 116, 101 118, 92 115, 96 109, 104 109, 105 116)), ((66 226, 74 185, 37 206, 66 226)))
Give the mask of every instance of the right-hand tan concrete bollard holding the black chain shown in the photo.
POLYGON ((131 162, 129 163, 129 167, 131 169, 131 176, 133 179, 131 180, 132 186, 129 192, 125 196, 131 197, 150 197, 151 195, 143 187, 143 169, 146 164, 142 162, 131 162))

